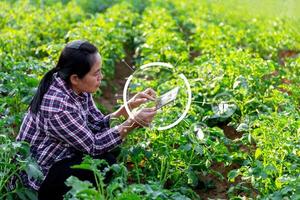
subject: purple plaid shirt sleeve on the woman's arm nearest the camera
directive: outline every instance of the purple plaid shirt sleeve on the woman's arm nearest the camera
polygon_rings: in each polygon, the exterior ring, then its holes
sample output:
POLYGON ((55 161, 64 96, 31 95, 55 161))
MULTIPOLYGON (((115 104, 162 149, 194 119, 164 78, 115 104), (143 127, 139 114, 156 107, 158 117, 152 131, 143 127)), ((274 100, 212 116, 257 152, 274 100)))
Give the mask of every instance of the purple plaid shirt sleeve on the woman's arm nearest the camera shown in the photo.
POLYGON ((93 156, 110 151, 122 142, 118 127, 104 130, 93 133, 76 111, 60 111, 49 120, 52 136, 93 156))

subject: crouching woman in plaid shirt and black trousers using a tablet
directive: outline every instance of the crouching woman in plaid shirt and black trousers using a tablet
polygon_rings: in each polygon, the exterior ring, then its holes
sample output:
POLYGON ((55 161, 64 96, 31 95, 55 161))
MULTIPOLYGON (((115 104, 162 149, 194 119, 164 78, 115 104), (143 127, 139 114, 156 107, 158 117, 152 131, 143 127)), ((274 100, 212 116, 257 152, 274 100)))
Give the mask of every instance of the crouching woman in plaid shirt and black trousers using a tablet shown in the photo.
MULTIPOLYGON (((23 175, 24 184, 38 190, 39 199, 62 199, 69 189, 64 182, 71 175, 94 183, 91 172, 70 166, 79 164, 82 154, 114 163, 110 151, 121 144, 128 132, 149 125, 156 114, 155 108, 145 108, 134 119, 128 119, 122 106, 104 116, 91 96, 103 78, 101 66, 94 45, 73 41, 61 52, 56 67, 40 82, 17 137, 18 141, 30 143, 32 156, 45 175, 43 181, 23 175), (110 128, 110 118, 120 116, 126 121, 110 128)), ((147 89, 136 94, 128 104, 135 108, 154 98, 155 92, 147 89)))

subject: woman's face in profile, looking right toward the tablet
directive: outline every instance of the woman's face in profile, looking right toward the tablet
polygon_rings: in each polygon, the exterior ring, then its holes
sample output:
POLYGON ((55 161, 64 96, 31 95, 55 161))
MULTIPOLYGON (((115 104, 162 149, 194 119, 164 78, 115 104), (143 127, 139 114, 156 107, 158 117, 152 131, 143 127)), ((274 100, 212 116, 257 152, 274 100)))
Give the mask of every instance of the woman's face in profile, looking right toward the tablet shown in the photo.
POLYGON ((102 61, 99 53, 94 55, 94 65, 91 70, 81 79, 77 79, 76 86, 73 87, 75 92, 80 94, 81 92, 93 93, 99 88, 101 80, 103 78, 101 73, 102 61))

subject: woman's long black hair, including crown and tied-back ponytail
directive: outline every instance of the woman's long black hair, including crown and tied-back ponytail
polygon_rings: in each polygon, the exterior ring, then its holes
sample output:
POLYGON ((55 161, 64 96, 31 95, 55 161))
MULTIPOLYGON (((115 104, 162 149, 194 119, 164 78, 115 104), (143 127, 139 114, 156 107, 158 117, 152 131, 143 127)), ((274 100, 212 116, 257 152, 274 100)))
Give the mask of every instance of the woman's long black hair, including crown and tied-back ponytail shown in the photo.
POLYGON ((30 103, 30 111, 37 114, 43 100, 44 94, 48 91, 53 74, 70 84, 70 76, 76 74, 83 78, 92 68, 95 59, 94 54, 98 52, 97 47, 85 40, 76 40, 68 43, 62 50, 57 65, 48 71, 42 78, 36 94, 30 103))

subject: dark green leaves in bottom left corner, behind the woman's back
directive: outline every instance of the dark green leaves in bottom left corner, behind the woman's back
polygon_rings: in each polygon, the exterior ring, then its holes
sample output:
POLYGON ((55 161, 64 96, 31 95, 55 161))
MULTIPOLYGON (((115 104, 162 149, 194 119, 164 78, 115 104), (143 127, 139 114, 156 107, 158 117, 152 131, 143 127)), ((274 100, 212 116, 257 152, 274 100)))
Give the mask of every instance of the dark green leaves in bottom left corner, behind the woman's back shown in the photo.
POLYGON ((30 157, 29 145, 11 141, 3 130, 0 132, 0 144, 0 198, 37 199, 35 191, 22 186, 20 177, 20 172, 26 172, 35 179, 43 177, 37 163, 30 157), (10 183, 13 183, 13 189, 10 183))

